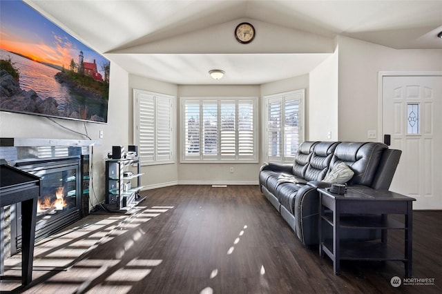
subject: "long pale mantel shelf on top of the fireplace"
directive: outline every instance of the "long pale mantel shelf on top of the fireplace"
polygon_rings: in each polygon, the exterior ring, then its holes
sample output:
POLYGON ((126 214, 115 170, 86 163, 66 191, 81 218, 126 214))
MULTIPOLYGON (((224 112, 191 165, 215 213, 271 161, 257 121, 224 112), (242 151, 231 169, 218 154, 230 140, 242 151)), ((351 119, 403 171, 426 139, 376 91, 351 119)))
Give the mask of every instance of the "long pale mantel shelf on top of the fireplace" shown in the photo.
POLYGON ((101 146, 102 141, 77 139, 0 138, 0 146, 101 146))

